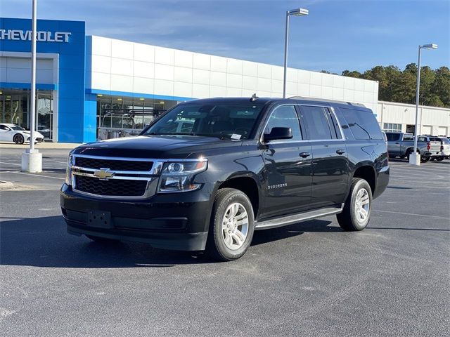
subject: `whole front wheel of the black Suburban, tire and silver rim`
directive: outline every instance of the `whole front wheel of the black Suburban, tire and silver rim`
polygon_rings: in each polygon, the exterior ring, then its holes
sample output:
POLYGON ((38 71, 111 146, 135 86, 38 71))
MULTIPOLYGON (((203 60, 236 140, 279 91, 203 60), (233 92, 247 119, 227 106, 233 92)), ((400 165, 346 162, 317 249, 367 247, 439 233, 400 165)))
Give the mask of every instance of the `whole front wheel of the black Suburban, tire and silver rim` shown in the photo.
POLYGON ((214 198, 207 254, 220 261, 231 261, 245 254, 253 238, 255 216, 247 195, 233 188, 222 188, 214 198))

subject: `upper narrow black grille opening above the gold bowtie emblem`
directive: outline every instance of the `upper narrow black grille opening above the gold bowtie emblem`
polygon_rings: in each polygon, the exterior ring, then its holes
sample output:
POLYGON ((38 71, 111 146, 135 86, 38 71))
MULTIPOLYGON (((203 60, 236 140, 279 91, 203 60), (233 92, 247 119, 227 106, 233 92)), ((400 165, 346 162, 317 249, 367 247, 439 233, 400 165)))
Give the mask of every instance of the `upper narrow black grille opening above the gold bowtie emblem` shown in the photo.
POLYGON ((112 160, 75 157, 75 166, 86 169, 110 169, 111 171, 150 171, 152 161, 112 160))

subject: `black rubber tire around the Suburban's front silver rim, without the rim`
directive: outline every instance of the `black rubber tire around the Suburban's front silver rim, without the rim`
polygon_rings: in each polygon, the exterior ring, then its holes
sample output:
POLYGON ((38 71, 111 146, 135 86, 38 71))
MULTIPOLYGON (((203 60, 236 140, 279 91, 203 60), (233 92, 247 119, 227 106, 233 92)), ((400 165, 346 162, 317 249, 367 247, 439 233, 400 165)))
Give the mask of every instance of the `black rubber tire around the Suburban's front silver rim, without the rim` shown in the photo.
POLYGON ((210 239, 212 242, 210 242, 210 244, 214 244, 216 255, 220 260, 235 260, 236 258, 243 256, 252 243, 254 227, 255 216, 253 214, 252 204, 247 195, 240 192, 240 190, 227 188, 226 191, 222 192, 219 197, 217 197, 214 203, 211 219, 210 231, 212 232, 210 233, 210 239), (225 245, 222 233, 222 220, 224 218, 225 211, 228 206, 234 202, 242 204, 248 214, 248 234, 247 237, 245 237, 243 246, 241 246, 240 249, 236 249, 236 251, 229 249, 225 245))

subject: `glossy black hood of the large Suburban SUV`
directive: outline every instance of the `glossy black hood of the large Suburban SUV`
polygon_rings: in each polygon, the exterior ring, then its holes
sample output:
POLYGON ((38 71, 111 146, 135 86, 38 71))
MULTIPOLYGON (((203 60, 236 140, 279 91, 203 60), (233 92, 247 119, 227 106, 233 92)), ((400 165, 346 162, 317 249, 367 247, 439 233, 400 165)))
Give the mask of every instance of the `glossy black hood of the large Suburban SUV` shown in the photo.
POLYGON ((84 144, 72 153, 105 157, 184 159, 192 152, 236 147, 236 143, 241 142, 203 136, 137 136, 84 144))

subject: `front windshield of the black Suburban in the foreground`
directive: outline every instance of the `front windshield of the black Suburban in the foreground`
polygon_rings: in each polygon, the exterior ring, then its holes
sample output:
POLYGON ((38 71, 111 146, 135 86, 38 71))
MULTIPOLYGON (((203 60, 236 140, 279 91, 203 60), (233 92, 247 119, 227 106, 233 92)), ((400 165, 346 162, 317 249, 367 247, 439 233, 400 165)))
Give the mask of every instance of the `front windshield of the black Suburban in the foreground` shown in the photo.
POLYGON ((163 115, 143 135, 210 136, 248 139, 263 105, 249 103, 181 104, 163 115))

